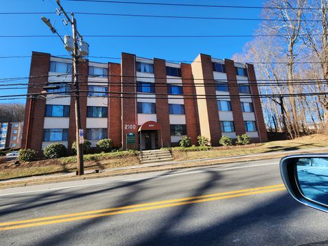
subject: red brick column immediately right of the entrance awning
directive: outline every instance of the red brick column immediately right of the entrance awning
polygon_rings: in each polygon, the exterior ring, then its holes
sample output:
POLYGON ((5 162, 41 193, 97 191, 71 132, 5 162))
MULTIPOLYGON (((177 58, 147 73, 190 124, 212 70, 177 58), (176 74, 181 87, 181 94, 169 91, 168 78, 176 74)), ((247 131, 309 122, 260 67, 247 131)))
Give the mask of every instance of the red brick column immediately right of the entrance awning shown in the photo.
POLYGON ((157 122, 161 124, 161 136, 159 136, 159 146, 169 147, 171 143, 171 135, 169 131, 169 100, 167 99, 166 66, 165 60, 154 59, 154 77, 155 77, 155 93, 165 96, 156 96, 156 117, 157 122), (165 97, 165 98, 162 98, 165 97))

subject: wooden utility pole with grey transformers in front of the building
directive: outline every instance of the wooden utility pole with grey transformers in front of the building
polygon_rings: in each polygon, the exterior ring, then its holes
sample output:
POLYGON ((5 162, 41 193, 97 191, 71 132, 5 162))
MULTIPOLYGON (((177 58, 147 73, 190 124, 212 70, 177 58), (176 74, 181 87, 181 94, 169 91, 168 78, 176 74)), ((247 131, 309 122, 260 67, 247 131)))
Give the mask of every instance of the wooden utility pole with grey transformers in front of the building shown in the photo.
MULTIPOLYGON (((48 27, 50 27, 51 31, 53 33, 56 33, 61 41, 64 43, 65 49, 67 49, 70 52, 70 55, 72 56, 73 61, 73 84, 72 84, 72 90, 74 88, 74 97, 75 97, 75 105, 74 105, 74 111, 75 111, 75 126, 76 126, 76 142, 77 142, 77 175, 83 175, 84 174, 84 166, 83 166, 83 129, 81 128, 81 111, 80 111, 80 98, 79 98, 79 59, 83 58, 82 55, 88 54, 88 44, 83 41, 83 37, 77 31, 77 20, 74 18, 74 14, 71 13, 71 18, 66 14, 64 8, 61 6, 60 1, 56 0, 57 5, 59 6, 59 10, 56 9, 57 15, 60 15, 61 13, 64 14, 66 19, 63 19, 63 22, 65 25, 67 23, 70 23, 72 26, 72 45, 68 44, 69 40, 66 39, 63 40, 59 33, 57 33, 56 29, 51 25, 50 20, 48 18, 42 17, 41 19, 46 23, 48 27), (67 43, 66 43, 67 42, 67 43), (80 46, 79 43, 80 42, 80 46), (71 53, 72 51, 72 53, 71 53)), ((70 36, 67 36, 68 38, 71 38, 70 36)))

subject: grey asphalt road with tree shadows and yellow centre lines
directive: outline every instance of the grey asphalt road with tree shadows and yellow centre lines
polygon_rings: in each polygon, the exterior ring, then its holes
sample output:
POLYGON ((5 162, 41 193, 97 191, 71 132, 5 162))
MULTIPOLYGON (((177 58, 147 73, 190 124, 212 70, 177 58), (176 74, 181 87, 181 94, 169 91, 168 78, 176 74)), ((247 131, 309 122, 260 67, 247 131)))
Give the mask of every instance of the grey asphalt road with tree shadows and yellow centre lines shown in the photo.
POLYGON ((328 245, 278 162, 0 190, 0 245, 328 245))

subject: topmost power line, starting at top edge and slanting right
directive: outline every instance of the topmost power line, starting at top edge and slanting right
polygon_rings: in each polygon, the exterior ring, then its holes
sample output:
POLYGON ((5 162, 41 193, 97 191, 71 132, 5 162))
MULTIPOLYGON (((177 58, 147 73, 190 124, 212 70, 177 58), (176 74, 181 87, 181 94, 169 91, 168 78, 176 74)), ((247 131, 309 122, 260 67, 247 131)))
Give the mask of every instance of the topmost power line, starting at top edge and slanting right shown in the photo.
MULTIPOLYGON (((123 3, 123 4, 136 4, 136 5, 165 5, 165 6, 183 6, 183 7, 201 7, 201 8, 239 8, 239 9, 269 9, 280 10, 279 7, 270 6, 242 6, 242 5, 209 5, 209 4, 188 4, 188 3, 158 3, 158 2, 137 2, 137 1, 105 1, 105 0, 66 0, 66 1, 80 1, 80 2, 93 2, 93 3, 123 3)), ((322 10, 320 8, 290 8, 289 10, 322 10)))

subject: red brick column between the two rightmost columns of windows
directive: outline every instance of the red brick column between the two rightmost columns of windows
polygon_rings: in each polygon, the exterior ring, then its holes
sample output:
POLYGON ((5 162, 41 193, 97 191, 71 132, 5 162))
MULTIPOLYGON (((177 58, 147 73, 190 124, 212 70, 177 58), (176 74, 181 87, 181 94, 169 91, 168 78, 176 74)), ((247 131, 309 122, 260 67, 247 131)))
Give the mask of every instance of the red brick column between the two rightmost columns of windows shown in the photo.
POLYGON ((245 124, 243 111, 241 110, 241 98, 239 98, 238 92, 236 67, 234 66, 234 61, 230 59, 225 59, 224 61, 228 79, 232 115, 234 116, 234 131, 236 131, 236 135, 243 135, 245 133, 245 124))

